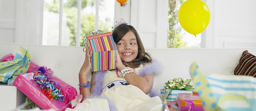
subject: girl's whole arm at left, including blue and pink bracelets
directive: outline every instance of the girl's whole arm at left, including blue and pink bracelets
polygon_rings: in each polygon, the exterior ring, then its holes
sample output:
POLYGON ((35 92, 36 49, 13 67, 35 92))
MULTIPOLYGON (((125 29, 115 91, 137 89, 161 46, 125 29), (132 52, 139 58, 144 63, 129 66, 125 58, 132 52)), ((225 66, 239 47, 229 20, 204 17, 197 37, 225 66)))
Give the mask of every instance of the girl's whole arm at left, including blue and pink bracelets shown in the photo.
MULTIPOLYGON (((83 84, 87 83, 87 75, 90 72, 90 67, 91 67, 90 51, 89 51, 89 47, 87 47, 86 53, 85 53, 85 60, 84 60, 83 66, 81 67, 81 69, 79 71, 79 84, 83 85, 83 84)), ((83 95, 83 98, 90 96, 91 93, 90 93, 89 87, 85 87, 85 88, 81 89, 80 94, 83 95)))

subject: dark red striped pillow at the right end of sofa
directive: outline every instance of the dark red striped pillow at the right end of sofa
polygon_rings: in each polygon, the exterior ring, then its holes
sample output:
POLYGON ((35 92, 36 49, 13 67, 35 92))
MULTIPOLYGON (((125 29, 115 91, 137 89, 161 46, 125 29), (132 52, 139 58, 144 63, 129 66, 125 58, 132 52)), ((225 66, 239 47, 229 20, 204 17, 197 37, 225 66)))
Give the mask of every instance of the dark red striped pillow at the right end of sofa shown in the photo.
POLYGON ((243 52, 237 67, 234 69, 234 75, 248 75, 256 77, 256 56, 247 50, 243 52))

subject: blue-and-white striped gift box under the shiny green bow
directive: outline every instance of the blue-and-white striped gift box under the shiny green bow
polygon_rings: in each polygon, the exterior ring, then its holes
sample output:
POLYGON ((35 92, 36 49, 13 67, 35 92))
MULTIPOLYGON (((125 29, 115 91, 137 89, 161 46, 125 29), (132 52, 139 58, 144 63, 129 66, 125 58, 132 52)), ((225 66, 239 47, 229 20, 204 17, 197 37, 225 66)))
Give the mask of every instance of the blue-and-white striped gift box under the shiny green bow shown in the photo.
POLYGON ((166 99, 166 101, 175 101, 178 93, 193 93, 192 91, 188 90, 173 90, 173 89, 161 89, 160 90, 160 98, 162 101, 166 99))

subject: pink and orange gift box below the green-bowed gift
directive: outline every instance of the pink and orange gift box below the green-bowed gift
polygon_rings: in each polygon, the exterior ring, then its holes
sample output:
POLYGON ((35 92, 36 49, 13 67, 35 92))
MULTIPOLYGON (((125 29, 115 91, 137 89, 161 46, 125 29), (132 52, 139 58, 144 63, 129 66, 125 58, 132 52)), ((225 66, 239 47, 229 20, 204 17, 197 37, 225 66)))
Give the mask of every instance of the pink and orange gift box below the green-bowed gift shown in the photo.
POLYGON ((181 111, 204 111, 198 94, 179 93, 176 101, 181 111))

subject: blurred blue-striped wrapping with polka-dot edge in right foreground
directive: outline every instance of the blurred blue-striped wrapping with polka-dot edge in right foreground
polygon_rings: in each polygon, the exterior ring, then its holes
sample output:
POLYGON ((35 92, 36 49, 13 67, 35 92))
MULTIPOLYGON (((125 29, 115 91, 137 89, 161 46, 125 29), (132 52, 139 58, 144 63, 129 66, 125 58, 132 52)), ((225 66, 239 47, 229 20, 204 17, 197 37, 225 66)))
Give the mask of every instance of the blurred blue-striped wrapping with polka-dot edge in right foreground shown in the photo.
POLYGON ((256 111, 256 78, 211 74, 204 76, 196 62, 190 75, 205 111, 256 111))

